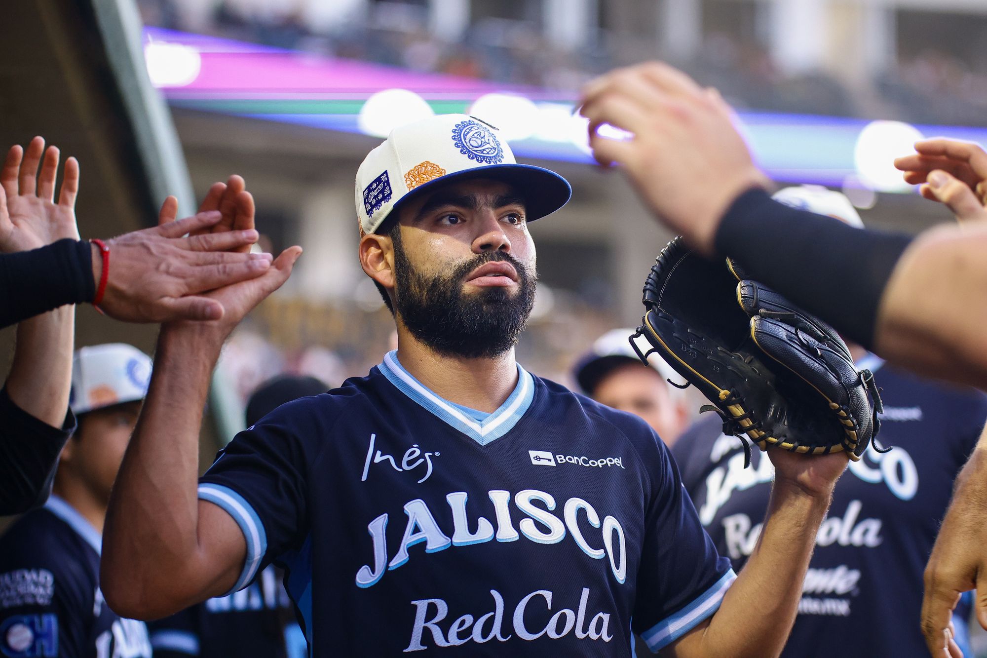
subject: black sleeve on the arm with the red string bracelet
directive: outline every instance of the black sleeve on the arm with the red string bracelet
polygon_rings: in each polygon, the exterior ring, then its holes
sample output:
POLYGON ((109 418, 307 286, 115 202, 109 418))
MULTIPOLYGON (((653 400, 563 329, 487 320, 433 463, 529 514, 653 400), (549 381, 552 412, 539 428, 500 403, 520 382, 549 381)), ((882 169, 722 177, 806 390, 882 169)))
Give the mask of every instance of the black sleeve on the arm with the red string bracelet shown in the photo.
POLYGON ((95 295, 88 242, 66 238, 0 255, 0 328, 65 304, 92 301, 95 295))

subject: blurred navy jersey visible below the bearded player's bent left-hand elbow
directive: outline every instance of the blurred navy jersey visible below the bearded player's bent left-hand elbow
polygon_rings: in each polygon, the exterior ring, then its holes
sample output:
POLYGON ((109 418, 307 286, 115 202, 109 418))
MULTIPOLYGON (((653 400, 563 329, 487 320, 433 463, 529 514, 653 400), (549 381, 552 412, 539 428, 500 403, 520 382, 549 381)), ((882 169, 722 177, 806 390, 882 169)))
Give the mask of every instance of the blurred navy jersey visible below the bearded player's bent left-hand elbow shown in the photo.
POLYGON ((268 566, 249 587, 148 622, 155 658, 305 658, 305 636, 281 584, 268 566))

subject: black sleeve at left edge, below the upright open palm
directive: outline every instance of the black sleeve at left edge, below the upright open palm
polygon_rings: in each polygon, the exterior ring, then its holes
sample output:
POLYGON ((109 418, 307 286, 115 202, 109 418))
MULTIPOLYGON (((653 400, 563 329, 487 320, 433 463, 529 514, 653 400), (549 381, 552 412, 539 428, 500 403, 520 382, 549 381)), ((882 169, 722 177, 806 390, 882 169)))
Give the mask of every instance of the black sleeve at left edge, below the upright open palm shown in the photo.
POLYGON ((75 416, 59 429, 39 421, 0 389, 0 516, 39 507, 51 493, 58 454, 75 431, 75 416))

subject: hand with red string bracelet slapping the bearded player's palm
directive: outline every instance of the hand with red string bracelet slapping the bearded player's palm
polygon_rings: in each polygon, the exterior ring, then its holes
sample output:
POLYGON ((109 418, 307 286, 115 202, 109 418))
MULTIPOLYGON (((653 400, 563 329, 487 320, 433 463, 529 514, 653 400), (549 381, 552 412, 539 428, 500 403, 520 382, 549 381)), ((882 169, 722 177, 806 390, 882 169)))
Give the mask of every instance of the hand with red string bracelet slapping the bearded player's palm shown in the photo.
MULTIPOLYGON (((174 198, 169 198, 162 213, 175 206, 174 198)), ((100 307, 127 322, 221 318, 223 304, 199 293, 261 277, 271 260, 269 254, 229 253, 257 242, 254 229, 183 237, 221 218, 215 210, 202 212, 108 240, 110 276, 100 307)), ((100 281, 101 273, 102 258, 94 247, 95 281, 100 281)))

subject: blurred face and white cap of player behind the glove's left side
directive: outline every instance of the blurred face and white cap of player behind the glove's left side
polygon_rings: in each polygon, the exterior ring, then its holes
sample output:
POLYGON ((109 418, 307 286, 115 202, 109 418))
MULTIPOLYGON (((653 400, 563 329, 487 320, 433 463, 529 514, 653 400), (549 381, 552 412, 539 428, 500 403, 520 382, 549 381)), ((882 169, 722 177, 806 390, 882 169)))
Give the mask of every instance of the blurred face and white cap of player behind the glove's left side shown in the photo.
POLYGON ((641 363, 627 337, 634 329, 613 329, 596 339, 572 369, 582 392, 600 404, 641 416, 669 448, 689 421, 683 392, 666 379, 680 379, 659 358, 641 363))

